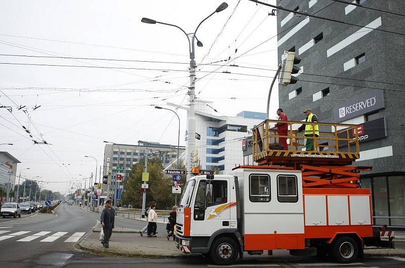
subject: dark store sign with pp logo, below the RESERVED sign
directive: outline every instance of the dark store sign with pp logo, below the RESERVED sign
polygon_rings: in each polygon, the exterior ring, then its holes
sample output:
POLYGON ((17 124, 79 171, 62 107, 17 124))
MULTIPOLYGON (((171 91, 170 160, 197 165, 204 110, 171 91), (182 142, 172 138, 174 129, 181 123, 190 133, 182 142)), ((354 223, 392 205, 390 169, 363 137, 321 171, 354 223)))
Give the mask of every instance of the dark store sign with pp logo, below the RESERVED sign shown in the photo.
MULTIPOLYGON (((338 135, 339 138, 347 138, 347 132, 342 132, 338 135)), ((385 127, 385 117, 365 122, 357 126, 358 142, 368 142, 388 136, 387 128, 385 127)), ((355 130, 349 131, 350 139, 356 137, 355 130)), ((339 147, 346 146, 346 141, 339 141, 339 147)))

